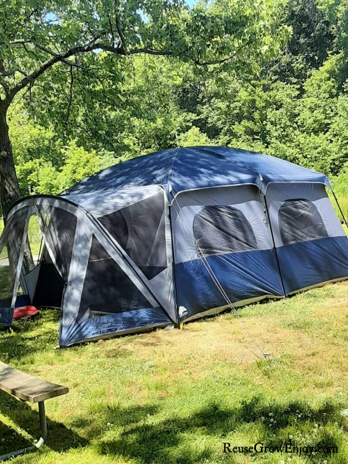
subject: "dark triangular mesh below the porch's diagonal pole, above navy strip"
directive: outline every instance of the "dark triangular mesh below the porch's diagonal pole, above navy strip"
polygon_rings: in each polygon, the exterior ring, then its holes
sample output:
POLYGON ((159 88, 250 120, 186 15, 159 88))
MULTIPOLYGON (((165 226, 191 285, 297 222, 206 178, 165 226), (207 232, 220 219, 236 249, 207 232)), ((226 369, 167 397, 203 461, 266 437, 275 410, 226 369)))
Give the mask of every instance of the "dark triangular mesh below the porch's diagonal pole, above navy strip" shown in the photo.
POLYGON ((102 313, 152 307, 95 237, 92 239, 79 317, 86 307, 102 313))

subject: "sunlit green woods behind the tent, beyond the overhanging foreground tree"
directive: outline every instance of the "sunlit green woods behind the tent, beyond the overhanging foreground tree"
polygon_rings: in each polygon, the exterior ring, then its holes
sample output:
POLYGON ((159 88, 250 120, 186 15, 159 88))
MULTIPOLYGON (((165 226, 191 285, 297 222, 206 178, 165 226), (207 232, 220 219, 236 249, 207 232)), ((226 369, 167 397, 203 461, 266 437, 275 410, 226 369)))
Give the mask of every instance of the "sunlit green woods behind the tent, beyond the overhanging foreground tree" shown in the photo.
MULTIPOLYGON (((227 145, 326 173, 348 215, 347 0, 272 5, 267 15, 288 34, 272 42, 263 37, 261 59, 244 57, 243 66, 144 55, 120 62, 99 52, 93 60, 105 74, 92 80, 55 65, 9 110, 21 193, 59 193, 157 150, 227 145)), ((192 17, 206 7, 193 5, 192 17)))

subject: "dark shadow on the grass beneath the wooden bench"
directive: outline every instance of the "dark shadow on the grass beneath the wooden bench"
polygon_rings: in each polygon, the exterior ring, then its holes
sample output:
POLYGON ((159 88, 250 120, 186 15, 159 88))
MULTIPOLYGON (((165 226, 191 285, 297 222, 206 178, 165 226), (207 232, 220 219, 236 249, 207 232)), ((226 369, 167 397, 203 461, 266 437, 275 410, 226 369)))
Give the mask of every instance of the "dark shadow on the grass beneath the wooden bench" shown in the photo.
MULTIPOLYGON (((3 454, 31 446, 34 444, 35 439, 39 439, 40 419, 37 408, 33 411, 28 403, 19 401, 7 393, 0 391, 0 410, 4 416, 7 416, 13 422, 17 430, 18 428, 25 430, 33 437, 32 439, 26 439, 14 429, 2 424, 4 435, 0 433, 0 437, 1 439, 5 438, 5 441, 1 442, 1 452, 3 454), (11 439, 14 433, 16 436, 15 441, 11 439)), ((1 428, 0 432, 2 432, 1 428)), ((88 443, 87 439, 81 437, 62 423, 52 421, 47 417, 47 440, 45 444, 51 450, 64 452, 71 448, 85 447, 88 443)))

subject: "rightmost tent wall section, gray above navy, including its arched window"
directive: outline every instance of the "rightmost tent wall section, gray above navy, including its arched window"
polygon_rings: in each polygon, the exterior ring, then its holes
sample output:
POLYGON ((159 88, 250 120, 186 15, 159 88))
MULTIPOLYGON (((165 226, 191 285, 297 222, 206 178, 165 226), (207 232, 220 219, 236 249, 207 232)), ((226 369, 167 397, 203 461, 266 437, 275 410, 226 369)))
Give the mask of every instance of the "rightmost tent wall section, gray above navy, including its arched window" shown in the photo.
POLYGON ((348 276, 348 239, 320 183, 266 189, 285 295, 348 276))

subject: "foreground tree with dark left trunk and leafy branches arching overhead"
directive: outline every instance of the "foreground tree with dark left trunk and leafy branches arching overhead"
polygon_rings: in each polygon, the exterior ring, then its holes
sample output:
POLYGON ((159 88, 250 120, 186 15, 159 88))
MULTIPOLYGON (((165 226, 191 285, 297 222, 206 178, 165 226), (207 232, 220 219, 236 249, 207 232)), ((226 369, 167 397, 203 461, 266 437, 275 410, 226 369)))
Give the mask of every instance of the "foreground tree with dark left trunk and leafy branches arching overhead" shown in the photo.
MULTIPOLYGON (((262 56, 271 57, 289 35, 285 26, 275 26, 281 7, 282 0, 222 0, 209 6, 202 2, 192 10, 181 0, 1 2, 0 202, 4 214, 20 197, 7 125, 7 111, 17 94, 30 94, 34 86, 43 86, 45 92, 69 86, 71 97, 74 73, 86 84, 94 81, 102 87, 108 75, 117 78, 113 69, 135 54, 243 69, 262 56), (70 83, 45 81, 57 66, 67 67, 70 83)), ((117 91, 115 82, 111 87, 117 91)), ((68 115, 70 105, 71 98, 68 115)))

